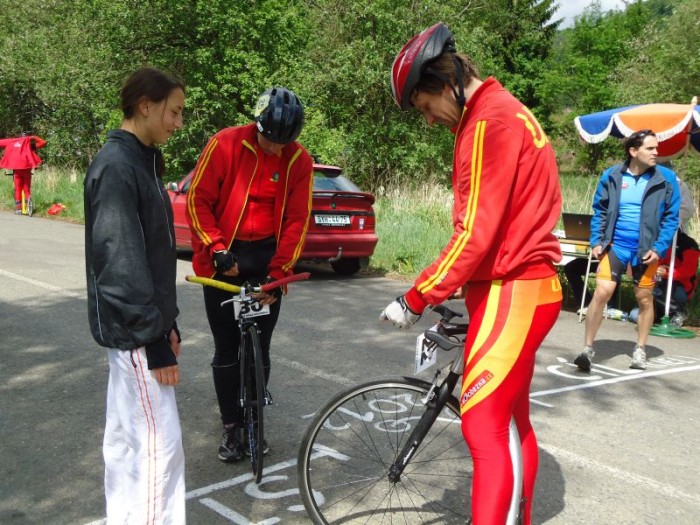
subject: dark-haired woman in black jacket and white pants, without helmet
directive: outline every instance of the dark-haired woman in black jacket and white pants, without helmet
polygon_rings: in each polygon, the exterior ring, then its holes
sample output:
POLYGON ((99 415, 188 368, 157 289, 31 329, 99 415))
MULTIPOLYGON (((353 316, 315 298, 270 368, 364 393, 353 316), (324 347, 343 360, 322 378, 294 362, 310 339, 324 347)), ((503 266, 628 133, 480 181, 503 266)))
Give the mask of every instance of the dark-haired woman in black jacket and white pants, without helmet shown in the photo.
POLYGON ((103 453, 107 520, 185 523, 184 453, 173 213, 155 148, 182 127, 182 82, 135 72, 121 91, 124 121, 85 178, 88 317, 108 348, 103 453))

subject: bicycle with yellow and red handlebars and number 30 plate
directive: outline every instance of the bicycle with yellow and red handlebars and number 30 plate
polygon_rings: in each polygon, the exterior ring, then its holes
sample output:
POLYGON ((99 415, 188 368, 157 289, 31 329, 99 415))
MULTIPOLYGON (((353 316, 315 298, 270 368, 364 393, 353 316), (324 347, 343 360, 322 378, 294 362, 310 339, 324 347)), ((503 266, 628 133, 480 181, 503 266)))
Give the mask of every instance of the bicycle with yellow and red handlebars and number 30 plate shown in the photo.
POLYGON ((250 450, 250 464, 255 482, 260 483, 263 472, 264 420, 263 408, 272 404, 272 397, 265 387, 265 369, 263 367, 260 329, 256 318, 270 314, 269 305, 261 305, 255 296, 261 292, 271 292, 281 286, 295 281, 308 279, 308 272, 298 273, 263 285, 242 286, 228 284, 215 279, 188 275, 186 280, 203 286, 212 286, 235 294, 223 301, 221 306, 233 303, 233 315, 241 334, 239 346, 240 382, 238 406, 243 409, 243 433, 250 450))

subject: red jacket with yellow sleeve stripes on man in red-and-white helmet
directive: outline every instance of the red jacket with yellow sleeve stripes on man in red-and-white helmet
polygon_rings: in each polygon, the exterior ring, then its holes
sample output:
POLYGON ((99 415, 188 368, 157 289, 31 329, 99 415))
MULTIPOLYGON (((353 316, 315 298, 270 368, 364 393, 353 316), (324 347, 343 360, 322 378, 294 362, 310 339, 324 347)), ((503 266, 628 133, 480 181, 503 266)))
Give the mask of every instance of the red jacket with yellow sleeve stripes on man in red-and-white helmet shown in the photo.
POLYGON ((418 312, 470 281, 547 277, 561 260, 559 174, 532 113, 489 77, 454 131, 454 232, 407 294, 418 312))

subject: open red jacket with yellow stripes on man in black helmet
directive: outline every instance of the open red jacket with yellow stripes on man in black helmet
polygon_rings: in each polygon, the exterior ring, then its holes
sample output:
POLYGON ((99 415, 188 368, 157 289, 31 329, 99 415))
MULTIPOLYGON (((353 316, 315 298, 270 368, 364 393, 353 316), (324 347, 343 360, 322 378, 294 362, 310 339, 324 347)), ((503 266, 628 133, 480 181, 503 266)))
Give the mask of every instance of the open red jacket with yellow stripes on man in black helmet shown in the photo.
MULTIPOLYGON (((192 267, 211 277, 214 251, 230 249, 240 226, 250 186, 259 176, 254 124, 226 128, 214 135, 194 169, 187 195, 187 219, 192 230, 192 267)), ((268 274, 289 275, 301 255, 311 214, 313 161, 298 143, 284 147, 275 196, 277 250, 268 274)))

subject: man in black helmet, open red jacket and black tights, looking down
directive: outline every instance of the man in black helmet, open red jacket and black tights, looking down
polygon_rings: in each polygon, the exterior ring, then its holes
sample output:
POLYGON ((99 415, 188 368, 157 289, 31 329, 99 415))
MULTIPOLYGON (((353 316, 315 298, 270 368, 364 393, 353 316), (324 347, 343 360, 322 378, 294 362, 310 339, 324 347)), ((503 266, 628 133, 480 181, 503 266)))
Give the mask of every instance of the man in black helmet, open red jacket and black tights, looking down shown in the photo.
MULTIPOLYGON (((192 230, 192 266, 197 275, 231 284, 276 280, 292 273, 304 247, 311 214, 313 161, 296 142, 304 122, 299 98, 283 87, 268 89, 255 108, 255 122, 214 135, 194 169, 187 196, 192 230)), ((224 435, 221 461, 239 461, 242 414, 236 406, 239 331, 232 294, 204 287, 204 305, 214 336, 214 387, 224 435)), ((265 382, 270 377, 270 341, 281 296, 261 294, 270 314, 260 328, 265 382)), ((268 451, 263 444, 263 453, 268 451)))

